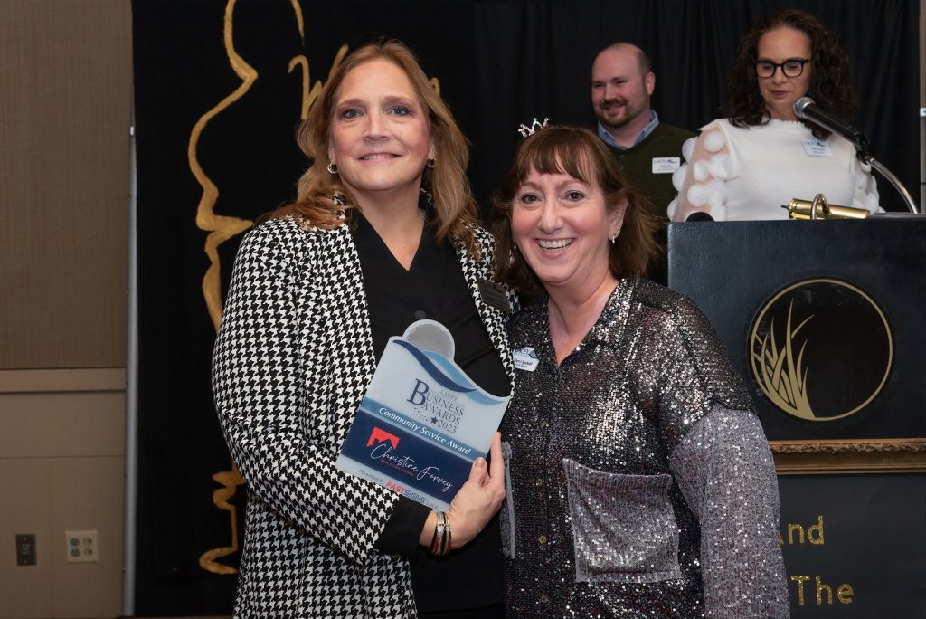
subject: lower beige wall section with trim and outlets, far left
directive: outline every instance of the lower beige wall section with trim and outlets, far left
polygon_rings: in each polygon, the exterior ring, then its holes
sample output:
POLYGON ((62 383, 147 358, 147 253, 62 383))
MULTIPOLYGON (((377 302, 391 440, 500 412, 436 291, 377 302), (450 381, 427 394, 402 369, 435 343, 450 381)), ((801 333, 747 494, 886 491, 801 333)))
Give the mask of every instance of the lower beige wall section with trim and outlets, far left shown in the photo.
POLYGON ((115 617, 122 605, 122 370, 0 373, 0 617, 115 617), (97 531, 98 562, 65 531, 97 531), (15 536, 36 536, 17 566, 15 536))

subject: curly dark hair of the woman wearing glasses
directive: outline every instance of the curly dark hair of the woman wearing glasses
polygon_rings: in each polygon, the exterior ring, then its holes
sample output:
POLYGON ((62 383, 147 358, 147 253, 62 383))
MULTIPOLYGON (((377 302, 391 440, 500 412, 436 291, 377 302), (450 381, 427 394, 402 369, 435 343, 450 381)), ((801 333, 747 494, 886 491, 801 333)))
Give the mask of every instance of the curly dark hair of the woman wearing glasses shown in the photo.
MULTIPOLYGON (((779 28, 804 32, 810 39, 812 69, 807 96, 836 116, 853 118, 856 95, 852 87, 852 70, 849 57, 839 45, 836 35, 809 13, 785 8, 760 19, 740 40, 727 85, 727 116, 732 124, 748 127, 768 122, 753 61, 757 59, 758 40, 766 32, 779 28)), ((803 122, 819 138, 830 135, 829 131, 812 122, 803 122)))

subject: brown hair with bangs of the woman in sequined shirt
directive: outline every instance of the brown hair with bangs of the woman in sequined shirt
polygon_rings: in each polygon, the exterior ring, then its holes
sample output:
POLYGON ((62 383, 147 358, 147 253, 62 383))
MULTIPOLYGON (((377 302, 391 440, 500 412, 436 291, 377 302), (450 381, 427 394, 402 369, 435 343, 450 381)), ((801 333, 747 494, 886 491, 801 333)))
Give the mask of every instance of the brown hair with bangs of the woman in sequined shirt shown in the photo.
POLYGON ((645 198, 624 178, 617 160, 594 133, 581 127, 552 126, 528 136, 515 153, 511 170, 494 197, 495 274, 520 293, 535 297, 543 285, 515 247, 511 211, 520 186, 531 171, 569 174, 596 185, 609 210, 624 209, 617 242, 610 247, 608 266, 618 279, 645 274, 659 249, 654 234, 657 219, 644 208, 645 198))

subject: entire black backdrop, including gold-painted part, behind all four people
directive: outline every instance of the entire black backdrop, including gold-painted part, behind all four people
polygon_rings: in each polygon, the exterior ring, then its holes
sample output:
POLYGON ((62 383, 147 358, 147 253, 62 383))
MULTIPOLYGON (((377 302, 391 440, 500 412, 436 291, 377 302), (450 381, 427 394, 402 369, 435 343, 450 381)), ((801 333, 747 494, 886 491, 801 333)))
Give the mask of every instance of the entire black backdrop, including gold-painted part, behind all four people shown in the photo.
MULTIPOLYGON (((915 194, 917 0, 795 4, 839 36, 855 71, 858 125, 875 156, 915 194)), ((135 613, 231 611, 239 558, 232 539, 241 538, 244 488, 232 481, 212 407, 214 319, 246 221, 292 199, 307 166, 294 144, 303 66, 315 84, 327 79, 342 45, 353 50, 379 36, 407 43, 439 79, 472 140, 470 179, 484 209, 507 171, 519 123, 549 117, 594 124, 589 73, 599 49, 618 40, 646 49, 657 74, 654 107, 663 120, 694 129, 721 115, 739 38, 779 6, 134 0, 141 343, 135 613), (217 220, 223 217, 231 219, 217 220), (236 220, 224 236, 215 232, 236 220), (211 259, 207 244, 216 246, 211 259), (212 284, 204 280, 210 266, 218 269, 212 284), (210 294, 218 299, 211 315, 210 294), (223 500, 236 516, 219 509, 223 500)), ((900 209, 888 183, 879 179, 879 186, 882 203, 900 209)))

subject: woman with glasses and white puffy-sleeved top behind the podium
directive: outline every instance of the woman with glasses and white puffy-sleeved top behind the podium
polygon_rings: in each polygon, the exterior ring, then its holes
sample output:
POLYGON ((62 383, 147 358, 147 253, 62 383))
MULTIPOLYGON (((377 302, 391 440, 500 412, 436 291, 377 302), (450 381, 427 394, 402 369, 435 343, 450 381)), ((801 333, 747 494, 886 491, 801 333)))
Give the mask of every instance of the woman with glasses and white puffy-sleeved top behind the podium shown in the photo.
POLYGON ((848 57, 835 35, 798 9, 761 19, 741 40, 728 86, 729 118, 685 143, 673 175, 672 221, 785 220, 792 198, 881 211, 870 166, 840 135, 798 120, 810 96, 840 118, 856 111, 848 57))

